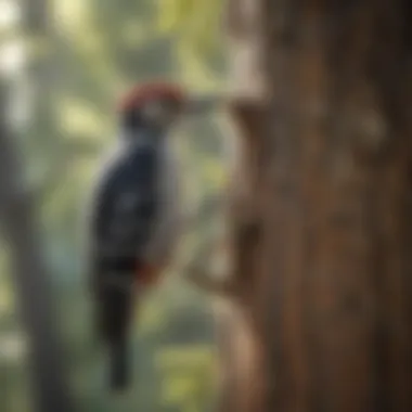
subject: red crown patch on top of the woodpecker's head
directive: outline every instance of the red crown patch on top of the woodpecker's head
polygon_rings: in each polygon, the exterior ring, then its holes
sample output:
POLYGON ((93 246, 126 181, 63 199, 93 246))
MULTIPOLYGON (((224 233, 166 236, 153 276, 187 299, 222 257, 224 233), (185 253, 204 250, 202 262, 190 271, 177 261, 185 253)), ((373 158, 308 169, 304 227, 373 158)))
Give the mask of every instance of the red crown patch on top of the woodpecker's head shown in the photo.
POLYGON ((167 82, 147 82, 134 86, 126 95, 120 100, 118 110, 119 112, 127 112, 138 108, 143 103, 152 99, 165 99, 182 104, 185 100, 183 90, 173 83, 167 82))

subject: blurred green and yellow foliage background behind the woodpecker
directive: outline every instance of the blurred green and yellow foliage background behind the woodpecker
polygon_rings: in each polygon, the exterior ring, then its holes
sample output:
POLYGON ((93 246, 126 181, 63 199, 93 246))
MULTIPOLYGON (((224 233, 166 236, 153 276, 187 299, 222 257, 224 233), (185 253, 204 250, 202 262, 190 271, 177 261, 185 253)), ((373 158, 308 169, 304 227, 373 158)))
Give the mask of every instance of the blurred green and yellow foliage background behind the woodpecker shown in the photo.
MULTIPOLYGON (((36 195, 41 242, 76 411, 210 410, 216 357, 210 298, 171 272, 147 299, 133 337, 136 378, 126 397, 105 387, 91 338, 82 271, 81 216, 102 153, 112 143, 117 96, 166 78, 195 92, 224 83, 220 1, 0 0, 0 72, 11 136, 36 195)), ((182 255, 219 227, 197 214, 224 185, 222 119, 188 124, 176 137, 194 219, 182 255), (196 215, 197 214, 197 215, 196 215)), ((1 244, 0 244, 1 246, 1 244)), ((0 411, 33 410, 28 348, 7 245, 0 249, 0 411)))

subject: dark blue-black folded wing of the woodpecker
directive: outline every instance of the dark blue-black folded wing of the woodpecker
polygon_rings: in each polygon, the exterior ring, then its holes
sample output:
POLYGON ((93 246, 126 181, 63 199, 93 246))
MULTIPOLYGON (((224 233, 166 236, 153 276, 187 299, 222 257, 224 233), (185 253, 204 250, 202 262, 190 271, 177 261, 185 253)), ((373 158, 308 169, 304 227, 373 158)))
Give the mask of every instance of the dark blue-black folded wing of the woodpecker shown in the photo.
POLYGON ((103 172, 91 214, 98 258, 139 256, 149 242, 157 209, 156 151, 141 144, 120 153, 103 172))

